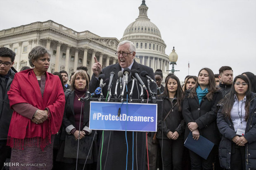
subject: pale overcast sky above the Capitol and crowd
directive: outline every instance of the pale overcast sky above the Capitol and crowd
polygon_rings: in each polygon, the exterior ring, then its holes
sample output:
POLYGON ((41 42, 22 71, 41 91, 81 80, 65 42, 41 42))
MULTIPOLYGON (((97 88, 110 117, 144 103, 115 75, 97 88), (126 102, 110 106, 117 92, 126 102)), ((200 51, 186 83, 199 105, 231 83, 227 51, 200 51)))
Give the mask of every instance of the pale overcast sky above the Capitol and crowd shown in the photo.
MULTIPOLYGON (((121 39, 139 15, 141 0, 0 0, 0 30, 52 20, 75 31, 121 39)), ((256 0, 146 0, 166 54, 178 54, 175 74, 184 80, 203 67, 223 65, 234 75, 256 74, 256 0)))

